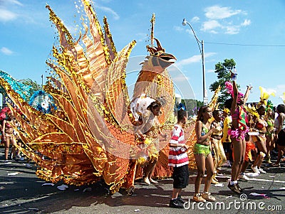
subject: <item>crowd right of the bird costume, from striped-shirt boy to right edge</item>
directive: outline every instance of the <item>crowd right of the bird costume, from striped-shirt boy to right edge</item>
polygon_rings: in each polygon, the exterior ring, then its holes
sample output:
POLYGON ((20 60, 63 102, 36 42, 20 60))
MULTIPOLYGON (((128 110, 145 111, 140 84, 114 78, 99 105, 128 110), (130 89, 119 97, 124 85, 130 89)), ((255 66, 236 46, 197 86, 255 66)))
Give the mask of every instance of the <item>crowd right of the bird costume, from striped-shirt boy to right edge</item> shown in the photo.
MULTIPOLYGON (((240 194, 243 189, 238 181, 249 180, 245 171, 250 162, 252 162, 250 168, 254 173, 266 173, 261 168, 262 163, 266 161, 267 164, 271 164, 270 166, 280 167, 285 152, 285 105, 281 104, 274 108, 271 102, 261 99, 256 106, 248 106, 246 102, 251 87, 247 87, 245 94, 238 91, 235 80, 232 83, 226 82, 226 87, 232 97, 226 100, 224 109, 203 106, 199 108, 197 114, 196 143, 192 148, 197 176, 192 200, 198 203, 216 200, 209 192, 209 188, 211 183, 219 183, 216 175, 221 167, 232 166, 227 187, 233 193, 240 194), (276 149, 278 149, 278 158, 276 163, 272 163, 271 155, 276 149), (204 191, 200 193, 203 178, 205 178, 204 191)), ((188 184, 189 172, 184 167, 188 159, 183 154, 186 153, 188 146, 185 144, 182 124, 185 124, 187 116, 183 109, 180 109, 177 115, 178 122, 170 139, 169 166, 173 167, 170 207, 184 208, 181 192, 188 184), (176 161, 173 162, 173 159, 176 161)))

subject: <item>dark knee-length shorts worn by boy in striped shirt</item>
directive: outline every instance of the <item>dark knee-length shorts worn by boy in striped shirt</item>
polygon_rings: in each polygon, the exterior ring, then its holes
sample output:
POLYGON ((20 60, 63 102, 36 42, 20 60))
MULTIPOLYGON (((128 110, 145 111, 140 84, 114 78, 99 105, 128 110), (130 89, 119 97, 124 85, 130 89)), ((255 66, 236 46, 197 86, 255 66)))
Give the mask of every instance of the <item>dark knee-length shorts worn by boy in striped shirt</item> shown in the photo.
POLYGON ((184 166, 173 167, 173 188, 186 188, 189 183, 188 164, 184 166))

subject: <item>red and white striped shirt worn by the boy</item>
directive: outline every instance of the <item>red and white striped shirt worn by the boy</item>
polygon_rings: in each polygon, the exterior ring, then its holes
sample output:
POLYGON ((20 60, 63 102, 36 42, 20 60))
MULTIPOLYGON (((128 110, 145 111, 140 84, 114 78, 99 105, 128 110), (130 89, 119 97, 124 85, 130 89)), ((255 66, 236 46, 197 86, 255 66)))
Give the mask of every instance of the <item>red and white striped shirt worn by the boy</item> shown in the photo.
MULTIPOLYGON (((172 129, 170 144, 185 144, 185 137, 182 127, 175 124, 172 129)), ((184 166, 189 164, 186 149, 182 147, 171 147, 168 156, 168 166, 184 166)))

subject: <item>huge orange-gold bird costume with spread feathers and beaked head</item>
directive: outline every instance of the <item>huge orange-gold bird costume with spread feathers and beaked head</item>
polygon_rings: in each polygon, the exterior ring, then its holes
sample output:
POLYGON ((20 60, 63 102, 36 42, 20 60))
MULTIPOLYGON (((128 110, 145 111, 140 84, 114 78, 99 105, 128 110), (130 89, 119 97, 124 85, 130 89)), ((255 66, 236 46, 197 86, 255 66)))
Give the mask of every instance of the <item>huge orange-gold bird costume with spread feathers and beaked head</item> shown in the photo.
MULTIPOLYGON (((82 4, 87 19, 83 23, 85 32, 78 40, 46 6, 58 30, 59 46, 53 46, 53 59, 46 62, 54 75, 44 89, 57 109, 43 114, 28 105, 3 78, 0 84, 24 114, 21 117, 11 108, 23 129, 23 153, 38 165, 37 176, 76 185, 103 178, 115 192, 127 182, 130 151, 136 145, 135 115, 130 110, 125 82, 125 68, 135 41, 117 52, 106 18, 103 33, 90 2, 82 0, 82 4)), ((159 117, 163 125, 175 102, 172 80, 165 68, 175 57, 156 42, 157 47, 147 47, 150 56, 142 63, 132 101, 142 94, 154 100, 163 98, 165 105, 159 117)))

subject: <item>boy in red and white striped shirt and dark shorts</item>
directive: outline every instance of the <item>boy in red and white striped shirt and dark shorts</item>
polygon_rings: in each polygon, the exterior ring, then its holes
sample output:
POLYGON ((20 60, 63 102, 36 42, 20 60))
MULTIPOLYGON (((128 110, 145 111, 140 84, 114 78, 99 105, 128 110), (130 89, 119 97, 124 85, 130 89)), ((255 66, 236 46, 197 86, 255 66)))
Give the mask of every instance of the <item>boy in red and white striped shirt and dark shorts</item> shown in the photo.
POLYGON ((184 208, 184 200, 181 199, 182 188, 186 188, 189 183, 189 160, 186 153, 188 146, 185 144, 185 136, 182 126, 187 122, 187 112, 180 109, 177 112, 177 124, 172 129, 170 139, 170 152, 168 156, 168 166, 173 167, 173 191, 170 200, 170 208, 184 208))

